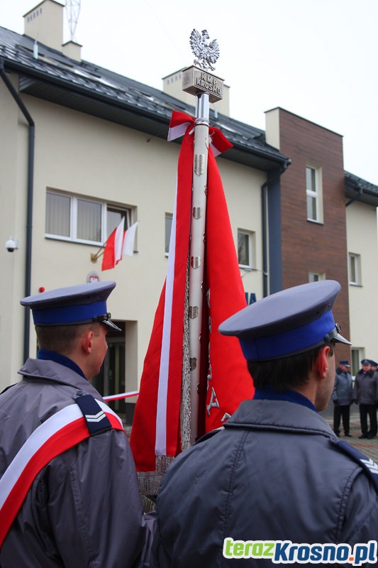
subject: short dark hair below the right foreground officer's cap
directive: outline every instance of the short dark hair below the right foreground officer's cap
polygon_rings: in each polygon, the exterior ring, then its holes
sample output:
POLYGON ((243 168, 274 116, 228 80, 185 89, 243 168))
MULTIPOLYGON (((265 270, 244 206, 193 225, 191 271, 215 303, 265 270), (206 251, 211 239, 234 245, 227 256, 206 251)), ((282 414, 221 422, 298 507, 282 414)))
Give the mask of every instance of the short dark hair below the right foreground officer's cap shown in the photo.
POLYGON ((271 359, 269 361, 247 361, 248 371, 256 388, 270 386, 274 391, 287 391, 288 388, 299 388, 308 381, 308 374, 313 368, 319 351, 325 346, 330 347, 333 355, 334 343, 323 344, 311 351, 271 359))

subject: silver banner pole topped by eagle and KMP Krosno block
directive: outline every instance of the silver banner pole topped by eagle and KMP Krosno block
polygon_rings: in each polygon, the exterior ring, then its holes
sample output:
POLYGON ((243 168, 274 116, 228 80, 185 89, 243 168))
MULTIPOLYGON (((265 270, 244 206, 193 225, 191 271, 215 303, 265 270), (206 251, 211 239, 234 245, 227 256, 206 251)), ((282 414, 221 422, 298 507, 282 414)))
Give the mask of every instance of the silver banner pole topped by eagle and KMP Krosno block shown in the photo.
POLYGON ((197 60, 182 73, 185 92, 196 97, 194 159, 189 251, 189 368, 190 368, 190 443, 198 436, 199 388, 201 381, 201 328, 204 303, 204 251, 206 233, 207 163, 209 151, 210 102, 223 97, 223 80, 211 75, 211 63, 219 55, 217 40, 208 42, 206 30, 193 30, 190 45, 197 60), (197 65, 199 67, 197 67, 197 65))

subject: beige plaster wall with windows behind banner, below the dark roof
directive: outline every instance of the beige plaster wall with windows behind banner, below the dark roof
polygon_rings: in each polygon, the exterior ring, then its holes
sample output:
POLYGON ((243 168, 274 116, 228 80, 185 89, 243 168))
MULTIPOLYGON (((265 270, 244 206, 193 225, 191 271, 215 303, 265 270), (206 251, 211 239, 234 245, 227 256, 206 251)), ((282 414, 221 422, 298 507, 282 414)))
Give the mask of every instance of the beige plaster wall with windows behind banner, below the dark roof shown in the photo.
MULTIPOLYGON (((52 0, 45 0, 41 7, 50 4, 59 12, 60 5, 52 0)), ((50 55, 40 45, 38 62, 48 65, 47 53, 50 55)), ((114 342, 110 372, 117 373, 118 381, 105 381, 103 390, 105 394, 135 390, 167 272, 166 218, 174 206, 179 144, 26 94, 20 89, 23 79, 16 70, 7 70, 6 80, 34 124, 30 293, 83 283, 92 273, 101 280, 115 280, 109 311, 121 324, 123 338, 110 338, 114 342), (101 256, 96 263, 91 258, 121 215, 128 226, 139 221, 135 253, 124 257, 116 268, 101 271, 101 256), (90 226, 92 221, 96 226, 90 226), (124 353, 117 349, 120 340, 124 353)), ((10 88, 0 80, 1 235, 4 243, 9 237, 16 239, 19 248, 10 253, 3 246, 1 252, 0 388, 17 380, 16 371, 27 355, 23 347, 25 315, 19 300, 26 293, 30 126, 10 88)), ((167 124, 164 130, 167 136, 167 124)), ((262 297, 260 187, 267 172, 221 157, 217 160, 235 248, 239 229, 250 239, 249 266, 241 268, 245 290, 262 297)), ((35 356, 32 321, 26 335, 28 354, 35 356)))

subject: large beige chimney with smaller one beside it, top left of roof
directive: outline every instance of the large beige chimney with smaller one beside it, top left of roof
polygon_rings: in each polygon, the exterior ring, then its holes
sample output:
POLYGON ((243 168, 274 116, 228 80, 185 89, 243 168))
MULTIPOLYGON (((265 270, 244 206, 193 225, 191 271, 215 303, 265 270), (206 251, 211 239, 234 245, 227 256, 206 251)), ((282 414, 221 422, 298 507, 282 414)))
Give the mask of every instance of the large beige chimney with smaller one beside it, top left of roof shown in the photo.
POLYGON ((23 16, 24 34, 79 61, 82 47, 79 43, 71 40, 62 45, 64 8, 56 0, 43 0, 23 16))

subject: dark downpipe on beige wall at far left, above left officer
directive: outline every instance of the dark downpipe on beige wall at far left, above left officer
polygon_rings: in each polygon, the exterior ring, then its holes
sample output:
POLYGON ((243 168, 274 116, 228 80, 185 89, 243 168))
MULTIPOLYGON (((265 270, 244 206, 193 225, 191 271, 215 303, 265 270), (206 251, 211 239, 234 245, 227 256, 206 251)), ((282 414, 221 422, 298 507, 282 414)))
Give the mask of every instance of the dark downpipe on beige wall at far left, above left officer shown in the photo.
MULTIPOLYGON (((7 77, 4 70, 4 60, 0 60, 0 77, 3 79, 6 87, 11 93, 13 99, 16 101, 18 108, 25 116, 29 125, 29 139, 28 139, 28 195, 26 205, 26 261, 25 261, 25 296, 30 295, 31 288, 31 241, 33 229, 33 177, 34 177, 34 141, 35 141, 35 124, 31 118, 28 109, 23 104, 20 95, 13 87, 13 84, 7 77)), ((25 309, 24 315, 24 329, 23 329, 23 361, 26 361, 29 356, 30 346, 30 310, 25 309)))

